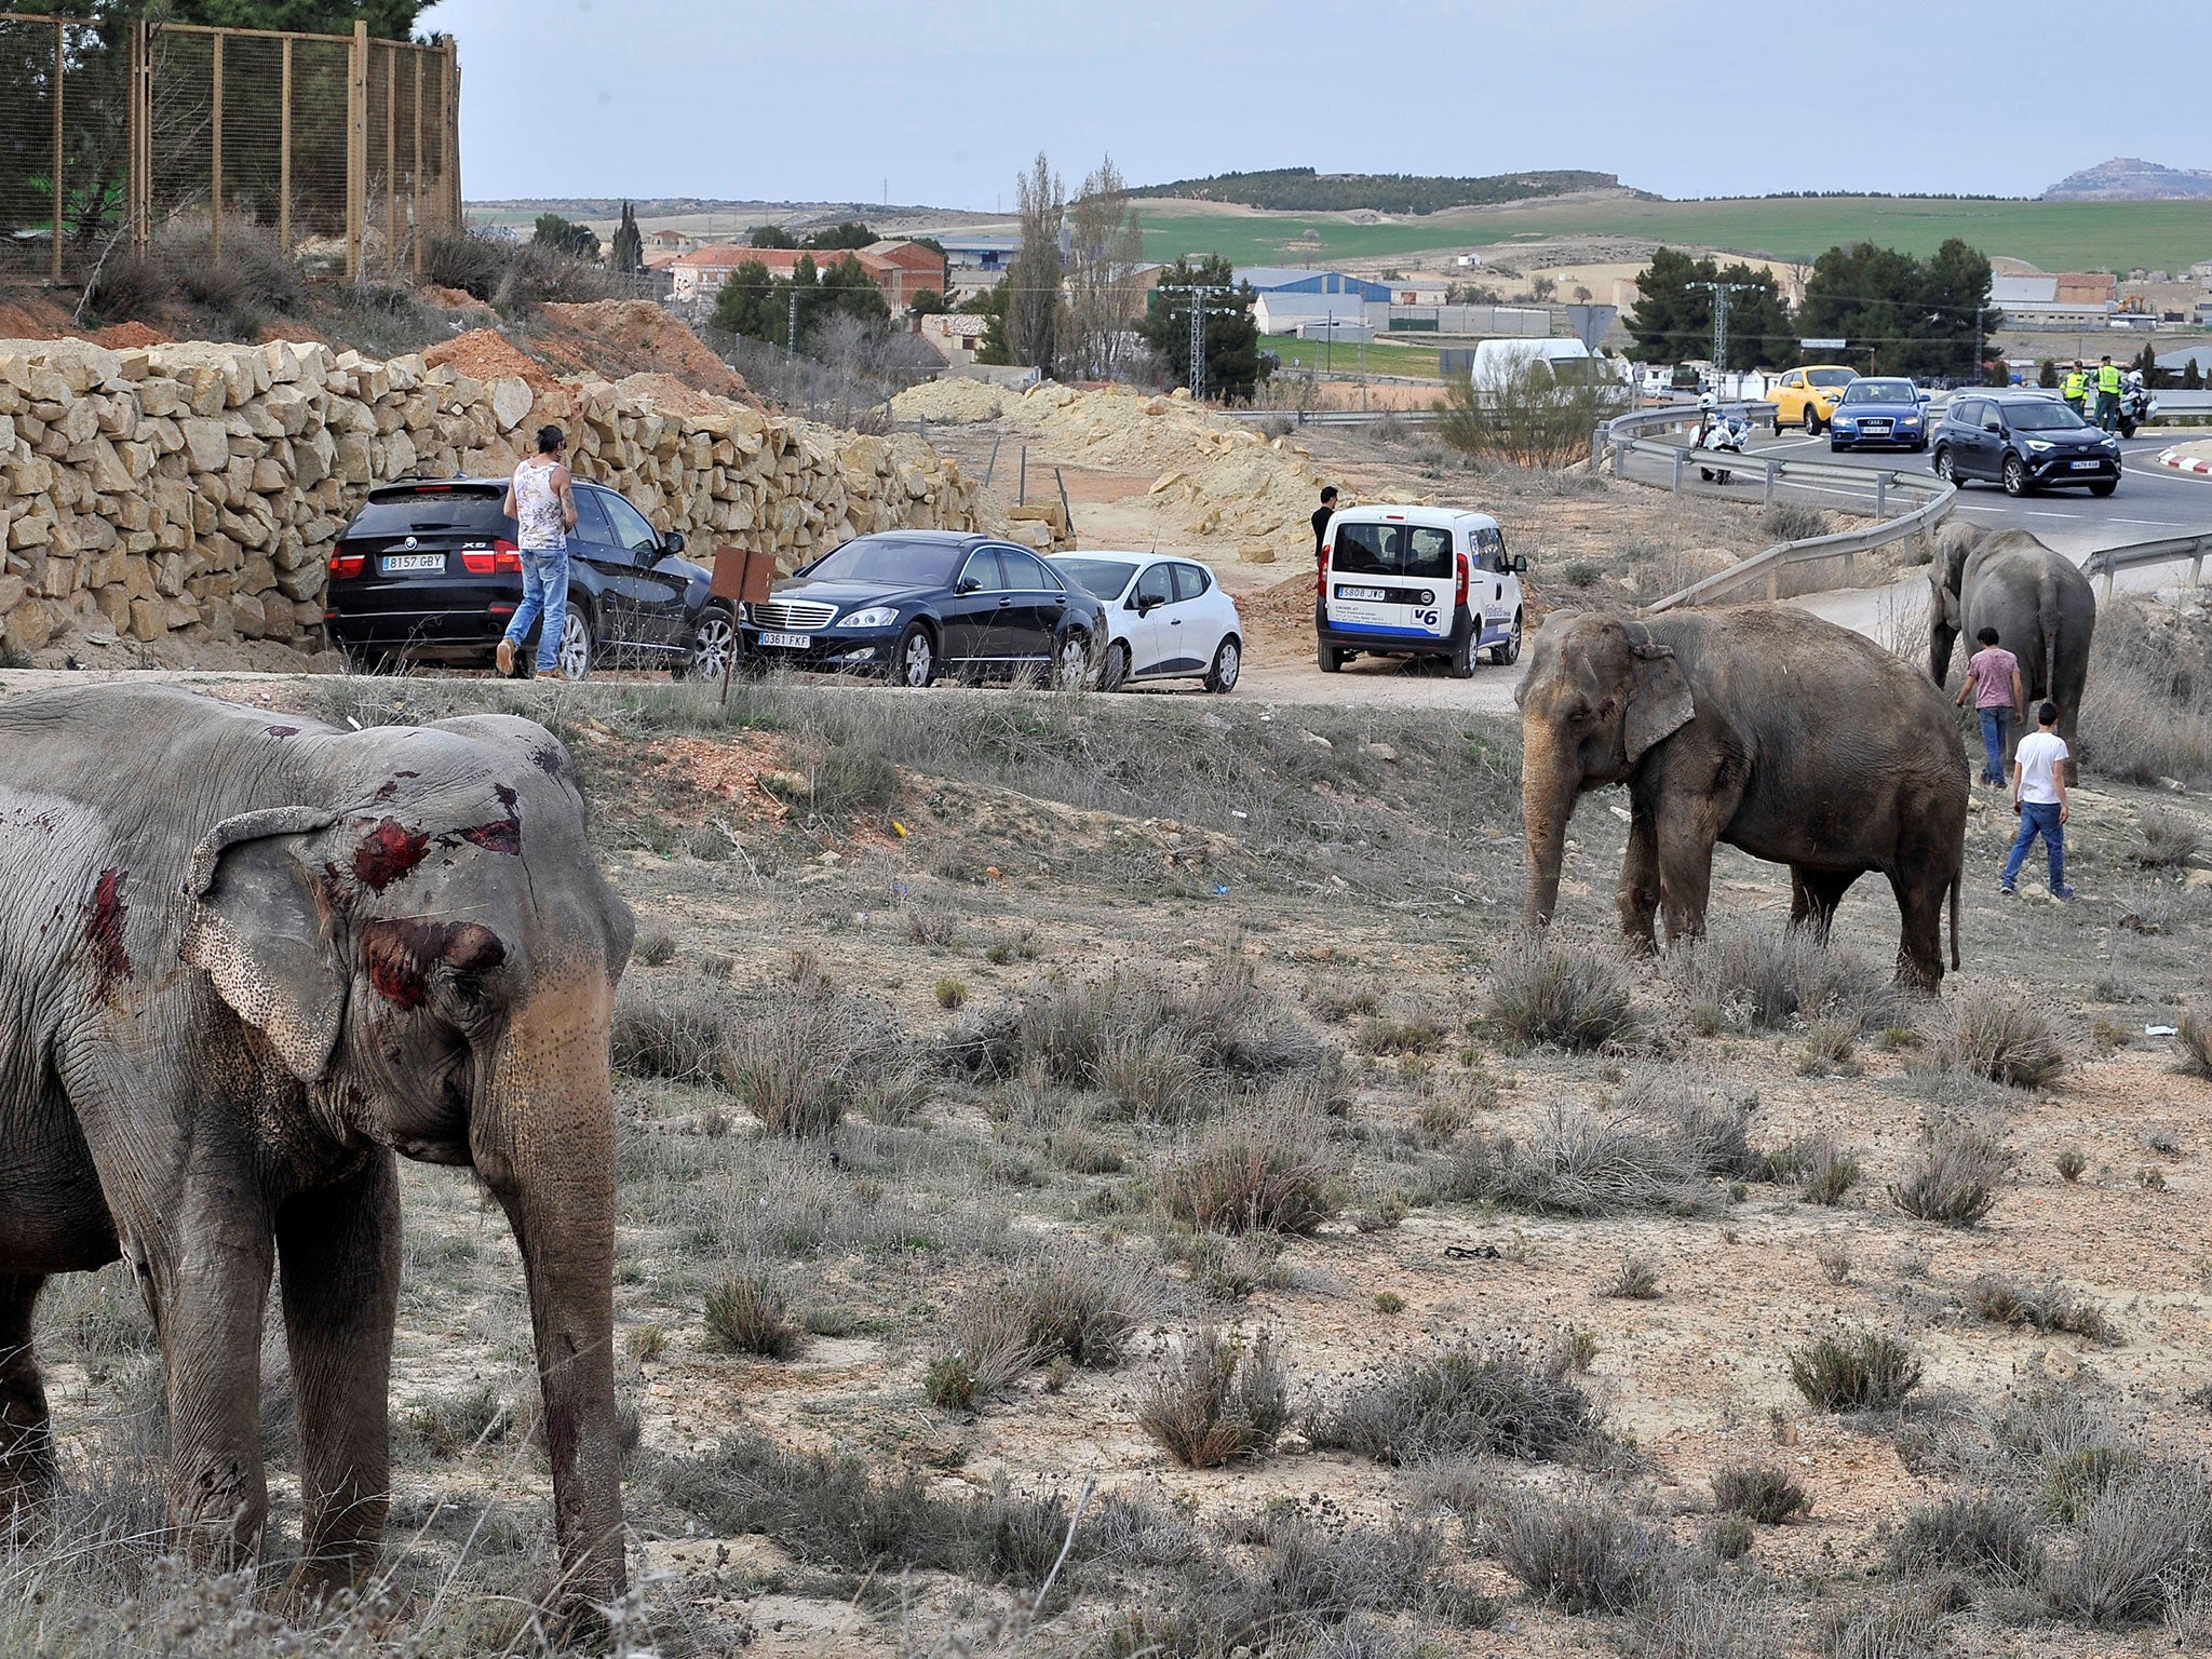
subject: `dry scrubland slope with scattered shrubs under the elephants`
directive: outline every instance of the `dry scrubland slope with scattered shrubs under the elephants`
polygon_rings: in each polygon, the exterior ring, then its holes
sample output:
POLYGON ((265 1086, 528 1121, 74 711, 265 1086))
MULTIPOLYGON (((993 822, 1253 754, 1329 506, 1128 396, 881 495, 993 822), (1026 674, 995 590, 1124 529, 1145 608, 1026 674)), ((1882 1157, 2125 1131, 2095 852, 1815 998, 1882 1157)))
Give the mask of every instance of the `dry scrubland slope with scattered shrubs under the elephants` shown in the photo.
MULTIPOLYGON (((630 1648, 2212 1641, 2194 794, 2088 776, 2073 907, 1993 896, 2011 814, 1978 803, 1966 971, 1920 1004, 1889 989, 1887 896, 1814 951, 1785 878, 1732 854, 1703 949, 1621 962, 1613 796, 1531 951, 1502 721, 783 681, 726 717, 641 686, 234 695, 511 708, 580 759, 639 914, 630 1648)), ((387 1577, 312 1635, 535 1650, 520 1270, 467 1181, 405 1188, 387 1577)), ((58 1283, 40 1340, 69 1498, 0 1546, 0 1652, 296 1650, 246 1586, 137 1542, 159 1360, 128 1279, 58 1283)), ((268 1378, 296 1540, 274 1340, 268 1378)))

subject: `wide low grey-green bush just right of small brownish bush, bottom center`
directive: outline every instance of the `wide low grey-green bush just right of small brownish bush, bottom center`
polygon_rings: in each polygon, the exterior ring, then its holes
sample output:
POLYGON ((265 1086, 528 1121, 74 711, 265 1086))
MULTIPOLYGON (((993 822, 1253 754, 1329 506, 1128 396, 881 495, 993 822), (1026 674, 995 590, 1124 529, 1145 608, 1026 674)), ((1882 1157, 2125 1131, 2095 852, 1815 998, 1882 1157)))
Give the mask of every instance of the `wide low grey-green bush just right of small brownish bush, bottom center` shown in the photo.
POLYGON ((1597 1433, 1597 1407, 1564 1354, 1531 1365, 1511 1347, 1471 1343, 1402 1358, 1305 1425, 1316 1447, 1389 1464, 1473 1453, 1555 1462, 1597 1433))

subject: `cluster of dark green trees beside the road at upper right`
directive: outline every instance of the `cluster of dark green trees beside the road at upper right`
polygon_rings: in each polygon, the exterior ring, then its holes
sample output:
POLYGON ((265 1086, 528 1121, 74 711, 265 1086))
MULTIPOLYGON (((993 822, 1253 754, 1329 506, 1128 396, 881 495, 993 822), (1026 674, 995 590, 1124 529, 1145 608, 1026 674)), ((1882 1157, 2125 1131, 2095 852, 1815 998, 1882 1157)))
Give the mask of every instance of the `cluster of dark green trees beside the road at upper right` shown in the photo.
POLYGON ((1982 378, 2004 323, 1989 305, 1989 259, 1958 237, 1927 259, 1865 241, 1829 248, 1794 310, 1767 268, 1659 248, 1637 274, 1639 299, 1626 319, 1644 361, 1712 356, 1710 283, 1736 290, 1728 296, 1728 363, 1739 369, 1787 369, 1807 361, 1798 341, 1840 338, 1840 349, 1809 356, 1863 374, 1982 378))

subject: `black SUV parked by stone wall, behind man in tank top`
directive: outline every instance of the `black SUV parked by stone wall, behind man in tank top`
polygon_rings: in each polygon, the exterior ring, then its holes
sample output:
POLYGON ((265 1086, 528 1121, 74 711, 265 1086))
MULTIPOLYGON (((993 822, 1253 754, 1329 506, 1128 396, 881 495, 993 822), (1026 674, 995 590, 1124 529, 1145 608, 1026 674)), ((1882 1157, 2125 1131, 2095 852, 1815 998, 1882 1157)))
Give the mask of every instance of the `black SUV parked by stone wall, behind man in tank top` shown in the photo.
MULTIPOLYGON (((504 478, 407 478, 372 489, 330 555, 323 628, 349 661, 482 666, 522 604, 504 478)), ((666 668, 719 677, 737 630, 708 573, 622 495, 575 480, 560 670, 666 668)), ((524 661, 535 653, 531 630, 524 661)))

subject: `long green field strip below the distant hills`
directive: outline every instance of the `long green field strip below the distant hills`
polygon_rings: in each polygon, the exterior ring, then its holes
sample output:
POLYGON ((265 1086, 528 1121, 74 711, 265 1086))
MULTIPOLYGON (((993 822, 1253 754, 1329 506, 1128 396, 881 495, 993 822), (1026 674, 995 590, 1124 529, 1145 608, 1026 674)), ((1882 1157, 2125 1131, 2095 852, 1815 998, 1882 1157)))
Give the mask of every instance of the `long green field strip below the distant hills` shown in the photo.
POLYGON ((2212 259, 2208 201, 1933 201, 1770 197, 1756 201, 1555 201, 1438 212, 1383 226, 1332 215, 1152 208, 1139 204, 1148 259, 1219 252, 1237 265, 1378 259, 1542 237, 1650 237, 1770 259, 1818 259, 1847 241, 1931 254, 1964 237, 1984 254, 2044 270, 2185 270, 2212 259), (1318 243, 1298 241, 1307 230, 1318 243))

